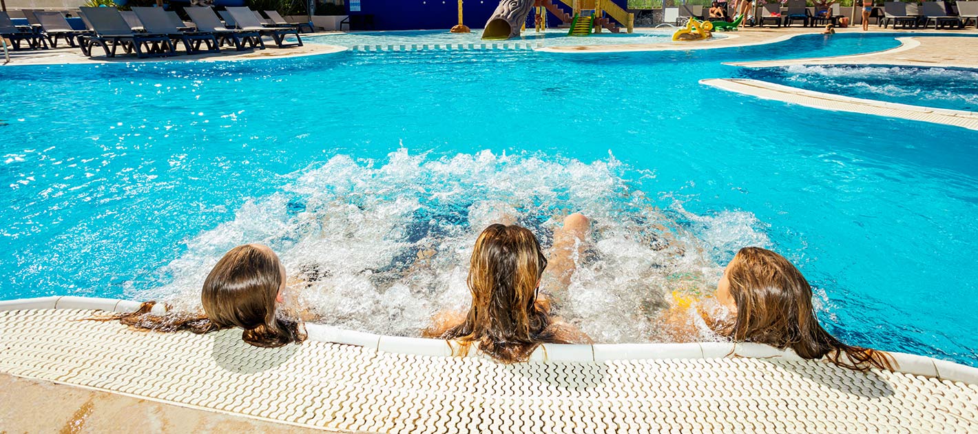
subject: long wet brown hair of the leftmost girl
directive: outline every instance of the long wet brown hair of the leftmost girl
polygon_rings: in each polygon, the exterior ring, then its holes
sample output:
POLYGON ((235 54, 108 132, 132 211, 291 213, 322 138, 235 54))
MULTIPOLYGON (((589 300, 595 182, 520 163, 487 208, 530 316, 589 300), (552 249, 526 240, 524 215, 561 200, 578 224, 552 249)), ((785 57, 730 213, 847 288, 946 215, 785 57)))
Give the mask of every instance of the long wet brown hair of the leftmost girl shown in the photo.
POLYGON ((207 275, 200 292, 204 316, 151 313, 156 302, 143 303, 131 313, 109 318, 138 329, 190 330, 206 333, 222 328, 244 328, 242 339, 263 348, 275 348, 306 338, 303 326, 276 316, 276 298, 282 287, 282 264, 271 249, 252 244, 228 251, 207 275))

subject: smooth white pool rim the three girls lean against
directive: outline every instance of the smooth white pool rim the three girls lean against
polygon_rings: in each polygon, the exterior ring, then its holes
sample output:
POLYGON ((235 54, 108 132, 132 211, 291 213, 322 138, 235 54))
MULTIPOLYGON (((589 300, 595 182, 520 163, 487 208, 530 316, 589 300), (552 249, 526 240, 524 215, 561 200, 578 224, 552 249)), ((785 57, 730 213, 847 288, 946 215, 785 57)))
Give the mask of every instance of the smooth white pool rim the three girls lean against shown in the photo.
MULTIPOLYGON (((79 309, 107 312, 132 312, 140 303, 113 298, 77 296, 50 296, 0 301, 0 312, 32 309, 79 309)), ((165 312, 156 305, 154 312, 165 312)), ((357 345, 387 353, 419 356, 448 357, 453 349, 449 341, 421 337, 384 336, 364 331, 348 330, 331 325, 307 324, 309 339, 322 342, 357 345)), ((905 353, 889 353, 897 363, 897 370, 914 375, 935 377, 942 380, 978 384, 978 369, 954 362, 905 353)), ((472 351, 469 357, 487 359, 488 356, 472 351)), ((531 362, 609 362, 616 360, 670 360, 670 359, 725 359, 725 358, 780 359, 802 361, 791 350, 757 343, 693 342, 693 343, 627 343, 562 345, 543 344, 531 355, 531 362)))

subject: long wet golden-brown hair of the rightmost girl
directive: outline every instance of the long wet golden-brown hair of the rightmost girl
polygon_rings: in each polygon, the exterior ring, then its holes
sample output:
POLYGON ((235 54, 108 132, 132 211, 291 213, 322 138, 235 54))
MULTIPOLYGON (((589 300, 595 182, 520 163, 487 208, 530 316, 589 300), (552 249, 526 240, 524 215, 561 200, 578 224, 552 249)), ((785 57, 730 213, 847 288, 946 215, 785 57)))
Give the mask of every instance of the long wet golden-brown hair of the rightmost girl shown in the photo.
POLYGON ((736 319, 725 330, 734 341, 791 348, 805 359, 822 359, 843 368, 892 370, 882 351, 846 345, 825 331, 812 305, 812 286, 783 256, 761 247, 744 247, 727 270, 736 319))

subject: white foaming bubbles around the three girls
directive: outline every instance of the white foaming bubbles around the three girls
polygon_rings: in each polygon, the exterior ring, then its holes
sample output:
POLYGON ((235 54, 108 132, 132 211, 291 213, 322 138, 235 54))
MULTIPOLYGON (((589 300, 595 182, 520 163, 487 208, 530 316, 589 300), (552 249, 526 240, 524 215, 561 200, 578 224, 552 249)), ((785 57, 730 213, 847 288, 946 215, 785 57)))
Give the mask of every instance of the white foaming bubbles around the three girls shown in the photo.
POLYGON ((190 239, 160 270, 170 282, 135 295, 200 310, 217 260, 260 242, 286 264, 289 309, 303 319, 418 336, 438 312, 467 309, 468 259, 486 226, 527 227, 550 255, 563 216, 582 212, 592 230, 556 314, 595 342, 662 341, 653 324, 674 291, 712 292, 718 258, 768 239, 750 213, 664 209, 630 177, 654 178, 610 154, 591 163, 488 151, 430 158, 401 149, 383 162, 336 155, 190 239))

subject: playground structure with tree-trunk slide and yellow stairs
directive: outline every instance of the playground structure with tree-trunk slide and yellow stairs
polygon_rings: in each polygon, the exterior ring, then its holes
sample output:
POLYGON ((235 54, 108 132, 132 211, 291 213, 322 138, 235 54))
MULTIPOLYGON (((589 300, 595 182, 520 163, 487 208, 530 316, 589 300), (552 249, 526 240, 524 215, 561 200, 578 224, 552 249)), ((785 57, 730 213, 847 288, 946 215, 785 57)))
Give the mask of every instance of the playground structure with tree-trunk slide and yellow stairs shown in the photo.
MULTIPOLYGON (((571 26, 569 34, 573 35, 600 33, 601 29, 618 33, 622 28, 631 33, 635 28, 635 15, 628 13, 612 0, 501 0, 496 11, 486 22, 482 38, 519 37, 526 18, 534 9, 538 16, 547 10, 564 24, 569 24, 571 26), (556 3, 569 6, 572 14, 567 14, 556 3)), ((461 16, 461 9, 459 14, 461 16)), ((538 31, 540 28, 538 23, 538 31)))

